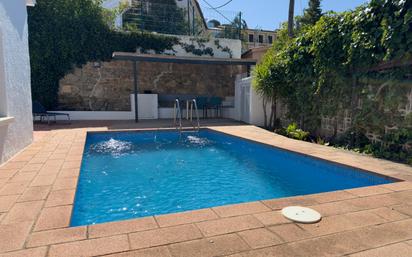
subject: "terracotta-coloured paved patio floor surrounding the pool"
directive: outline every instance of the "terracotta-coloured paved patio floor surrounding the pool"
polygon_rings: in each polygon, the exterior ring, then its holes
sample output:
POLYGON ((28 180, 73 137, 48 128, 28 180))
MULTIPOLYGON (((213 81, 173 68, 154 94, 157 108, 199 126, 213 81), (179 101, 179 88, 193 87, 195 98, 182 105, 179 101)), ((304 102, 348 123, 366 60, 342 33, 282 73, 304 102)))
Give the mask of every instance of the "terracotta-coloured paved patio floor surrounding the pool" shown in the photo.
POLYGON ((86 132, 168 123, 37 126, 35 142, 0 166, 0 256, 412 256, 411 167, 230 121, 210 125, 405 182, 70 228, 86 132), (289 222, 279 213, 288 205, 310 206, 324 218, 289 222))

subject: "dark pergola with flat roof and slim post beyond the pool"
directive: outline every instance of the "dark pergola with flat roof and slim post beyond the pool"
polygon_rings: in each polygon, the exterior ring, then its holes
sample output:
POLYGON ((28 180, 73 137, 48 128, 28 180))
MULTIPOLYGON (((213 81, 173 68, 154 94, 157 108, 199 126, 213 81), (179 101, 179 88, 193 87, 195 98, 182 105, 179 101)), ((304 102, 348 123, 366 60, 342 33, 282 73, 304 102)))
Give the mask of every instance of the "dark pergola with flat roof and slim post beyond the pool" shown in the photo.
POLYGON ((134 110, 135 110, 135 122, 139 122, 139 110, 138 110, 138 76, 137 69, 139 62, 159 62, 159 63, 177 63, 177 64, 200 64, 200 65, 231 65, 231 66, 246 66, 248 70, 253 65, 256 65, 254 59, 223 59, 212 57, 181 57, 172 55, 160 55, 160 54, 139 54, 139 53, 127 53, 127 52, 114 52, 113 59, 119 61, 131 61, 133 62, 133 85, 134 85, 134 110))

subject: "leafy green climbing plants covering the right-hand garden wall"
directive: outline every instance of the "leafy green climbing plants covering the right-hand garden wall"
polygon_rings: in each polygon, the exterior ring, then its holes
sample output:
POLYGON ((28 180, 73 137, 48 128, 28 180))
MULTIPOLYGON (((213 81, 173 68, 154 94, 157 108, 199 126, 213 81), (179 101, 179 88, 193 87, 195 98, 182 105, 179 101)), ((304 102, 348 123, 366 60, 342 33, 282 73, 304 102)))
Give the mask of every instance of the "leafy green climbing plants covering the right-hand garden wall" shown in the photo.
POLYGON ((285 134, 299 127, 299 137, 316 139, 322 119, 335 118, 331 143, 412 164, 412 1, 312 13, 298 19, 294 38, 285 25, 254 71, 255 89, 272 105, 266 126, 280 124, 280 101, 296 123, 285 134), (346 118, 349 129, 338 133, 346 118))

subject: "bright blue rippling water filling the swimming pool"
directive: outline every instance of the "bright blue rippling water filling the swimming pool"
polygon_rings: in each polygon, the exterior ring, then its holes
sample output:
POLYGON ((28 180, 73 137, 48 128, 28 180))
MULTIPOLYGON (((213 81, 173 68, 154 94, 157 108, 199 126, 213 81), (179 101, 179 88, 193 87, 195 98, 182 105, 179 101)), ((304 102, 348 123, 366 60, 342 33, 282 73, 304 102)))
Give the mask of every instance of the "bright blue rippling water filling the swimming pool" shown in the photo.
POLYGON ((211 130, 89 133, 71 225, 391 182, 211 130))

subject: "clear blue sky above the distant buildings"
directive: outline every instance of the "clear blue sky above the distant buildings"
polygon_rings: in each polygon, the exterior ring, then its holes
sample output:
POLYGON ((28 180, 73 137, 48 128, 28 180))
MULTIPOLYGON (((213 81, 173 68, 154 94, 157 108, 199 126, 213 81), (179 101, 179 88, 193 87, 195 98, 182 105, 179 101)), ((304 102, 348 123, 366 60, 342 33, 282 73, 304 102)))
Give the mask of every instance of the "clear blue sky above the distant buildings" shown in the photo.
MULTIPOLYGON (((225 20, 215 11, 207 9, 205 0, 198 0, 206 18, 225 20)), ((229 0, 206 0, 212 6, 220 6, 229 0)), ((367 0, 323 0, 323 11, 346 11, 356 8, 368 2, 367 0)), ((295 0, 295 15, 303 13, 307 7, 308 0, 295 0)), ((236 13, 242 12, 249 28, 274 30, 288 19, 289 0, 232 0, 230 4, 223 7, 222 14, 232 20, 236 13)))

